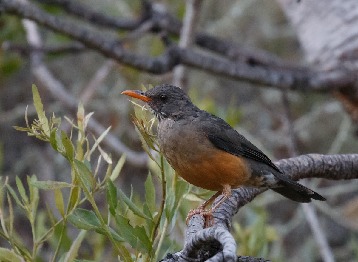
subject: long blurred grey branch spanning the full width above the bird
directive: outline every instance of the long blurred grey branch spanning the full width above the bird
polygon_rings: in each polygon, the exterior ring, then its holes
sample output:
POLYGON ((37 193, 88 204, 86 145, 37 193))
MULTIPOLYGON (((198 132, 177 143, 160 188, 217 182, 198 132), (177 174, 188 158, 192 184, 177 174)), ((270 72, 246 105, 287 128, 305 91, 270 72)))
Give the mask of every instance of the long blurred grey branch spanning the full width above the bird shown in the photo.
POLYGON ((116 59, 121 64, 140 71, 162 74, 171 71, 175 65, 183 64, 213 74, 263 86, 316 92, 350 88, 353 87, 355 81, 355 76, 345 70, 315 72, 308 68, 297 70, 297 68, 252 65, 252 63, 233 62, 227 58, 182 49, 175 44, 171 44, 165 53, 157 58, 136 55, 125 50, 116 39, 102 37, 102 35, 70 23, 64 18, 50 15, 31 4, 21 4, 15 0, 1 0, 0 10, 36 21, 57 33, 81 42, 88 48, 97 50, 106 57, 116 59))

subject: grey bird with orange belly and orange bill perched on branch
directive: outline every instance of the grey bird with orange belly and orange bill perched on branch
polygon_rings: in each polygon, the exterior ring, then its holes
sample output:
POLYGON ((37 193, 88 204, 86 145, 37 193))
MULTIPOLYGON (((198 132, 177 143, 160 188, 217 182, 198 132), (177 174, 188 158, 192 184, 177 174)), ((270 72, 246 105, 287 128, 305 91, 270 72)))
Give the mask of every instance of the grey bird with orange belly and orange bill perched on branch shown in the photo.
POLYGON ((213 212, 242 186, 272 189, 295 202, 326 200, 315 191, 287 178, 260 149, 221 118, 200 110, 187 93, 170 84, 147 91, 127 90, 121 94, 147 103, 158 119, 160 149, 176 173, 190 184, 217 191, 189 219, 199 214, 204 226, 213 226, 213 212), (208 210, 205 208, 221 198, 208 210))

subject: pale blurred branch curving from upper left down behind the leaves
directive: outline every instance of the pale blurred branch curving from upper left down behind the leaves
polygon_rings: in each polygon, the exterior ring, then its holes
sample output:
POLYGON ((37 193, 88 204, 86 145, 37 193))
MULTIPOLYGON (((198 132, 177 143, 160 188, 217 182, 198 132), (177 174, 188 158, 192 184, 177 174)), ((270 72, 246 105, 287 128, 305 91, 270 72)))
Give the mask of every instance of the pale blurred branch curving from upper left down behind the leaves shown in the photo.
MULTIPOLYGON (((30 20, 23 20, 24 28, 26 31, 26 38, 30 45, 39 47, 41 45, 41 38, 38 34, 36 24, 30 20)), ((63 84, 56 79, 49 69, 42 62, 42 55, 38 52, 33 52, 31 55, 31 67, 32 72, 39 81, 44 84, 44 86, 71 110, 76 111, 78 107, 79 100, 73 97, 71 94, 67 93, 66 88, 63 84)), ((103 127, 96 120, 91 118, 88 122, 88 128, 95 132, 97 136, 101 135, 106 128, 103 127)), ((126 152, 126 161, 131 163, 134 166, 146 166, 148 156, 145 152, 135 152, 125 146, 120 140, 116 138, 115 135, 108 132, 108 134, 103 139, 109 148, 117 152, 118 154, 123 154, 126 152)))

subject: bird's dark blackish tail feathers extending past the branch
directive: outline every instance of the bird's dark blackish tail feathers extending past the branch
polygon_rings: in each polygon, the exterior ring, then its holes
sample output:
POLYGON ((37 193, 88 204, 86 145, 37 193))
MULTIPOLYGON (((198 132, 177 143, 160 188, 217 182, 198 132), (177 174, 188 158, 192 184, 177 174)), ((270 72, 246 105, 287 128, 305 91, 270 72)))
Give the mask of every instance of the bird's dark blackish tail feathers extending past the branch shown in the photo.
POLYGON ((271 188, 276 193, 283 195, 286 198, 289 198, 296 202, 306 203, 311 202, 311 199, 317 200, 326 200, 320 194, 316 193, 315 191, 306 188, 304 185, 301 185, 291 179, 286 178, 282 174, 274 174, 276 178, 280 181, 277 183, 277 188, 271 188))

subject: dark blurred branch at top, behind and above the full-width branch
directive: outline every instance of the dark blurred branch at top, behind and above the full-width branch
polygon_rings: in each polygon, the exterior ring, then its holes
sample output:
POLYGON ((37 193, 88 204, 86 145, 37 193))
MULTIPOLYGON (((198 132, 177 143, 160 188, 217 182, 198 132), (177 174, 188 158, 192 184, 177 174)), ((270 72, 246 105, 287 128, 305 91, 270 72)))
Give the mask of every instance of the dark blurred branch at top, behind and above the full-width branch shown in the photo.
MULTIPOLYGON (((129 18, 113 18, 102 13, 91 10, 87 5, 73 2, 72 0, 37 0, 40 3, 60 6, 66 12, 76 15, 86 21, 99 26, 105 26, 120 30, 135 30, 140 24, 147 21, 153 22, 152 31, 167 31, 170 34, 179 36, 182 30, 183 23, 179 19, 163 11, 158 11, 153 8, 153 4, 143 2, 142 15, 131 20, 129 18)), ((240 44, 225 41, 205 33, 196 33, 194 36, 195 43, 200 47, 206 48, 218 54, 224 55, 230 60, 241 61, 251 65, 267 65, 280 67, 295 67, 299 69, 296 64, 279 58, 275 54, 266 52, 265 50, 242 47, 240 44)))

